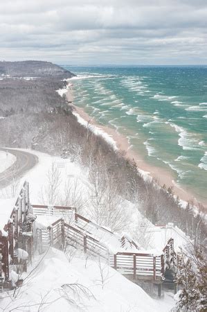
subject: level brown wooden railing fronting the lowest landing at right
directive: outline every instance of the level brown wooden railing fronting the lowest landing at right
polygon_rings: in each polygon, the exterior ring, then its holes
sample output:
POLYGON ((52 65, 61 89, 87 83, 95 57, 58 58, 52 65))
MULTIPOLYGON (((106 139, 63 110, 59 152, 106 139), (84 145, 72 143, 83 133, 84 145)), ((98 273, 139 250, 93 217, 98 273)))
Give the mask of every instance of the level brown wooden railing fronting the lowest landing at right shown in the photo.
POLYGON ((162 278, 161 256, 154 254, 118 252, 110 256, 110 266, 133 279, 160 280, 162 278))

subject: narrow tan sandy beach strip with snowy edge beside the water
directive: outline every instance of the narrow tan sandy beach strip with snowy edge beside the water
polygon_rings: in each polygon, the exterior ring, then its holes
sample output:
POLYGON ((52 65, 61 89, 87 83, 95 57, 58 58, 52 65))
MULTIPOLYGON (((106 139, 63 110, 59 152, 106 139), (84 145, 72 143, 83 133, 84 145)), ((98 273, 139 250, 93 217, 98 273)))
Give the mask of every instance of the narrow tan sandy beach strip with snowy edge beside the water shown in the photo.
POLYGON ((84 108, 75 106, 73 104, 72 88, 68 89, 68 92, 66 93, 66 98, 67 101, 69 101, 70 103, 72 102, 71 104, 74 107, 76 116, 80 116, 80 119, 96 128, 96 130, 100 130, 100 133, 98 134, 102 135, 102 137, 105 138, 105 135, 110 137, 111 140, 107 140, 109 141, 109 144, 113 144, 114 141, 114 146, 116 145, 116 148, 120 150, 120 152, 123 152, 124 157, 127 157, 128 159, 134 160, 136 162, 138 171, 143 175, 144 179, 154 179, 159 187, 163 187, 163 184, 165 184, 167 188, 173 187, 174 196, 179 196, 182 207, 186 207, 187 203, 193 200, 196 207, 199 206, 199 204, 201 203, 201 205, 203 205, 204 208, 207 209, 206 202, 201 202, 197 200, 197 198, 195 198, 189 191, 186 191, 185 189, 177 186, 176 182, 174 182, 172 175, 170 175, 168 171, 163 168, 147 164, 147 162, 145 162, 141 155, 139 155, 134 150, 131 150, 127 137, 121 135, 110 126, 100 125, 95 119, 93 119, 93 117, 89 116, 89 114, 84 111, 84 108))

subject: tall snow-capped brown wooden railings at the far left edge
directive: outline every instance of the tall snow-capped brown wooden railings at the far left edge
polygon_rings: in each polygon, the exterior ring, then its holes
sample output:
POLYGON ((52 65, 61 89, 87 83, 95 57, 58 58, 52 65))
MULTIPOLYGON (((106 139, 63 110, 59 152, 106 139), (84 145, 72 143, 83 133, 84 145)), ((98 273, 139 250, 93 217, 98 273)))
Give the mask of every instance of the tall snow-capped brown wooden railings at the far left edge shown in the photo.
MULTIPOLYGON (((29 184, 24 182, 15 205, 8 209, 8 216, 4 218, 6 222, 0 228, 0 280, 4 288, 10 288, 10 264, 12 270, 19 264, 17 251, 27 254, 28 260, 32 257, 33 217, 30 213, 29 184)), ((27 259, 24 259, 25 269, 27 259)))

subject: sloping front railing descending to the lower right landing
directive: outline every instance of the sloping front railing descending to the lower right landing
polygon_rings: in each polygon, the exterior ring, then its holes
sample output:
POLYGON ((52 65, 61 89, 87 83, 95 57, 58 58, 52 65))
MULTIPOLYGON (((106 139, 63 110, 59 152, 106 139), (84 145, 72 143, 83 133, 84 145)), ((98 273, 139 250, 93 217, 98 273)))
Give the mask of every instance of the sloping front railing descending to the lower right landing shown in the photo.
POLYGON ((64 236, 66 244, 73 245, 74 247, 79 245, 85 253, 108 259, 109 252, 105 245, 101 244, 93 237, 84 234, 84 232, 82 232, 80 229, 77 229, 65 223, 64 236))

